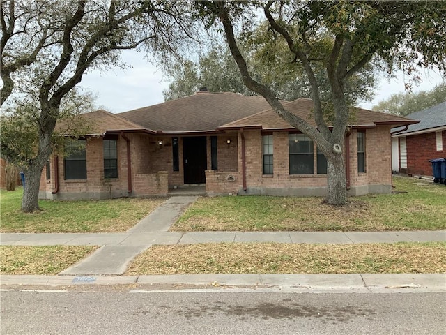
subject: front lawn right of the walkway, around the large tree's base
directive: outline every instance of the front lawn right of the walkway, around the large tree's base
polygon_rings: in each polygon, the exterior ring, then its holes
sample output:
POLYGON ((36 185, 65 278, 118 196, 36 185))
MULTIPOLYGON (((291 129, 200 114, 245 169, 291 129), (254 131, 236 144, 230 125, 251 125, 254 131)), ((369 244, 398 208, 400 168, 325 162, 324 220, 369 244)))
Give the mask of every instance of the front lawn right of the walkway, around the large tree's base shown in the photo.
POLYGON ((176 231, 385 231, 446 229, 446 186, 394 177, 395 191, 330 206, 322 198, 199 198, 176 231), (420 184, 420 185, 419 185, 420 184))

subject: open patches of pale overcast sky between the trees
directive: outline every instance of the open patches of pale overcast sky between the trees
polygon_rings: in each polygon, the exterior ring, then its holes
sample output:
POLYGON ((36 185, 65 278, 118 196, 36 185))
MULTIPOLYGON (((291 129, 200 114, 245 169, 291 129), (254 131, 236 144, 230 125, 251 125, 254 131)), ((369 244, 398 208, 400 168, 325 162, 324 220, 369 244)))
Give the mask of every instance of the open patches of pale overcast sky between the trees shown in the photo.
MULTIPOLYGON (((87 73, 82 77, 80 86, 97 94, 97 105, 113 113, 164 102, 162 91, 169 87, 169 82, 163 77, 162 71, 144 60, 143 54, 134 51, 125 52, 123 59, 132 64, 132 67, 125 70, 110 68, 102 73, 98 71, 87 73)), ((422 75, 424 80, 420 86, 413 89, 414 92, 430 90, 442 79, 440 74, 432 70, 423 71, 422 75)), ((391 80, 383 78, 378 84, 374 101, 362 103, 360 107, 370 109, 378 101, 403 91, 402 75, 391 80)))

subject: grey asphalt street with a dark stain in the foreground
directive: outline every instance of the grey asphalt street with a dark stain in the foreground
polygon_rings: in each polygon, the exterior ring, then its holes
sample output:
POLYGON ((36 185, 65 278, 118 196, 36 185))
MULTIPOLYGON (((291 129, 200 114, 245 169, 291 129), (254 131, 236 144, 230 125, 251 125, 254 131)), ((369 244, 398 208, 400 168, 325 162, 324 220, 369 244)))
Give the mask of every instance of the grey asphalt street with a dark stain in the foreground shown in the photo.
POLYGON ((444 334, 445 293, 1 292, 1 334, 444 334))

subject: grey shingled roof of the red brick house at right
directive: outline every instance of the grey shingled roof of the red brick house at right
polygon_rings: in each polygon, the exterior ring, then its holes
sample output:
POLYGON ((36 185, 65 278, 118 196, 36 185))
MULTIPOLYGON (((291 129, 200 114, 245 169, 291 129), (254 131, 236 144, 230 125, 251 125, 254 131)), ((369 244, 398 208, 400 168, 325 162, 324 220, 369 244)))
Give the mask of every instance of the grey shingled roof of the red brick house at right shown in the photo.
POLYGON ((419 124, 409 126, 407 131, 401 131, 398 136, 408 133, 429 133, 429 130, 446 128, 446 101, 436 106, 420 110, 407 116, 409 119, 420 120, 419 124))

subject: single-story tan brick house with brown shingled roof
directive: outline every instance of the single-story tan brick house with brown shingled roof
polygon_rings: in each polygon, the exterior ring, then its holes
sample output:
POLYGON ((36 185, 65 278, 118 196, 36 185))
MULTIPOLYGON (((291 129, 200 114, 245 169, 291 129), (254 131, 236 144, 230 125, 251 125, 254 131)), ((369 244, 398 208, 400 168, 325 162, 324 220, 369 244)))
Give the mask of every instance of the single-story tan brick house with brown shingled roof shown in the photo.
MULTIPOLYGON (((284 102, 312 119, 312 101, 284 102)), ((52 157, 40 198, 167 195, 206 186, 208 195, 325 195, 327 163, 309 137, 286 124, 261 96, 200 93, 121 114, 84 117, 84 149, 52 157)), ((392 188, 390 131, 415 121, 358 109, 344 143, 351 195, 392 188)))

